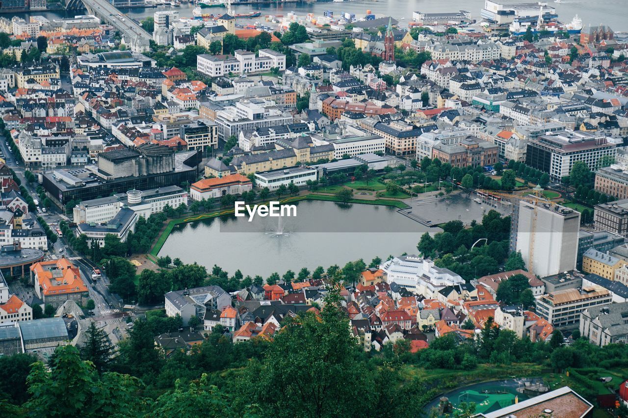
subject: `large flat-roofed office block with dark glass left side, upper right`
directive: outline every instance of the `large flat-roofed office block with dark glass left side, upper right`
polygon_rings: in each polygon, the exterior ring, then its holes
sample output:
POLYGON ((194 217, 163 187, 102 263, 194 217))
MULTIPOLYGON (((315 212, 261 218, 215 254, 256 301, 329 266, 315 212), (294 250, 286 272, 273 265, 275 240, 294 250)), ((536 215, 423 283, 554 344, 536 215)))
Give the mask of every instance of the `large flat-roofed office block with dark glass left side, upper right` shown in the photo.
POLYGON ((553 132, 529 139, 526 165, 549 174, 553 181, 569 176, 576 161, 595 170, 600 158, 614 159, 617 149, 607 137, 590 132, 553 132))

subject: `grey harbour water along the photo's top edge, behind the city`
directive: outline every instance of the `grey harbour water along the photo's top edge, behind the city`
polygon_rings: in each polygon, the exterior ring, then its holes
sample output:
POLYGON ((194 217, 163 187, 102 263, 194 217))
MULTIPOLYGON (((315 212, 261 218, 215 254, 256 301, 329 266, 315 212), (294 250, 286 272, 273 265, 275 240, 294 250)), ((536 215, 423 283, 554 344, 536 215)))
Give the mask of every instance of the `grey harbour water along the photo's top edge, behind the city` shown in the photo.
MULTIPOLYGON (((527 0, 526 0, 527 1, 527 0)), ((628 12, 625 9, 625 0, 563 0, 556 4, 549 1, 549 4, 556 8, 561 21, 570 22, 575 14, 582 18, 583 24, 597 25, 608 24, 615 31, 628 31, 628 12)), ((287 4, 255 4, 234 6, 237 13, 246 13, 253 10, 261 10, 263 15, 286 14, 294 11, 299 15, 314 13, 316 16, 323 14, 325 10, 332 10, 335 14, 341 12, 355 13, 356 17, 364 16, 366 10, 372 13, 385 16, 393 16, 398 19, 400 26, 406 26, 412 19, 413 11, 423 11, 427 13, 455 12, 467 10, 476 19, 479 19, 480 9, 484 7, 484 0, 380 0, 380 1, 354 1, 346 3, 287 3, 287 4)), ((158 8, 143 9, 122 9, 122 11, 132 18, 144 19, 153 16, 157 10, 171 9, 171 6, 160 6, 158 8)), ((193 4, 181 4, 176 8, 181 17, 192 17, 193 4)), ((225 9, 215 8, 212 13, 219 13, 225 9), (215 10, 215 12, 214 12, 215 10)), ((18 13, 18 16, 28 17, 30 15, 43 15, 48 19, 65 16, 59 11, 36 11, 32 13, 18 13)), ((13 16, 13 14, 11 14, 13 16)), ((260 22, 263 16, 257 18, 260 22)))

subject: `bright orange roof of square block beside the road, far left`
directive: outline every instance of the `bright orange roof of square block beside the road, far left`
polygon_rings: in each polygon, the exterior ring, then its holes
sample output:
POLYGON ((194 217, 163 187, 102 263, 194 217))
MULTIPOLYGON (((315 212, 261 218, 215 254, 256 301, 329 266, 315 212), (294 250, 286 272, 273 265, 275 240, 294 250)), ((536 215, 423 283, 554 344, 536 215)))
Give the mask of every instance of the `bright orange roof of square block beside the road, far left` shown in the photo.
POLYGON ((80 278, 80 271, 65 257, 35 263, 31 265, 31 271, 35 273, 45 296, 87 292, 87 287, 80 278))

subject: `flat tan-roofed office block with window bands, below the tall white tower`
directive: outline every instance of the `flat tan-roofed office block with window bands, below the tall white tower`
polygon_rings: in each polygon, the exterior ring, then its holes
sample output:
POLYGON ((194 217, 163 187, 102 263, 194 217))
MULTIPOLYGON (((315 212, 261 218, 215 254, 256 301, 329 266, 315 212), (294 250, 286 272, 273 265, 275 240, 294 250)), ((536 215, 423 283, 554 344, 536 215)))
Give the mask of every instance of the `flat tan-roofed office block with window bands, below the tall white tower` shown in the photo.
POLYGON ((611 299, 610 292, 600 286, 549 292, 536 298, 536 313, 553 326, 568 326, 580 322, 584 309, 609 304, 611 299))

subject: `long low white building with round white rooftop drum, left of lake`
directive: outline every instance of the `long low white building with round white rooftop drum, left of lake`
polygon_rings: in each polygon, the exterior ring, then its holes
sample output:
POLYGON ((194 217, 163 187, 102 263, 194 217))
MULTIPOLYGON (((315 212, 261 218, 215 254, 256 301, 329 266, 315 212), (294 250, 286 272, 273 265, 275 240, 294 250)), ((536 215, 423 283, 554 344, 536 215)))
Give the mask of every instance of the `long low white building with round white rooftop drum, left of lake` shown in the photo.
POLYGON ((112 220, 127 207, 139 216, 148 218, 163 212, 168 205, 177 208, 188 204, 188 193, 179 186, 165 186, 151 190, 129 190, 111 197, 84 200, 73 208, 75 223, 103 223, 112 220))

